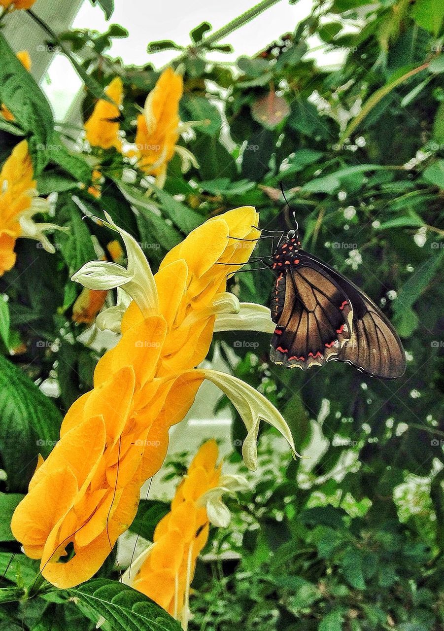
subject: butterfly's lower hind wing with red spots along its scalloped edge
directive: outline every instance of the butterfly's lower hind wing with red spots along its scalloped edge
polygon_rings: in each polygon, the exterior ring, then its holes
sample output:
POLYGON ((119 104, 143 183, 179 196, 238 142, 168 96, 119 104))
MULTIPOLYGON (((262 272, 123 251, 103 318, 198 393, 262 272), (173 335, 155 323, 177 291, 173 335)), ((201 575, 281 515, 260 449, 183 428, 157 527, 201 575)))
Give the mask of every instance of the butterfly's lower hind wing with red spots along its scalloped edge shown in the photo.
POLYGON ((277 276, 272 298, 271 361, 306 370, 337 357, 351 337, 353 309, 324 271, 300 264, 277 276))

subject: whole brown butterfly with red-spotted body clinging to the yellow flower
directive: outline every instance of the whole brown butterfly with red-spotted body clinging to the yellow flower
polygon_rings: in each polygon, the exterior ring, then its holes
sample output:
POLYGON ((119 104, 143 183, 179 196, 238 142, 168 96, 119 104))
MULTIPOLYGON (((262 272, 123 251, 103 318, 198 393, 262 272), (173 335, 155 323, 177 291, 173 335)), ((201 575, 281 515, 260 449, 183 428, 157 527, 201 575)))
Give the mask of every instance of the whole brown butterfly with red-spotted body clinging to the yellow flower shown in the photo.
POLYGON ((373 377, 403 375, 406 355, 387 317, 358 286, 300 245, 290 230, 272 254, 271 361, 307 370, 336 360, 373 377))

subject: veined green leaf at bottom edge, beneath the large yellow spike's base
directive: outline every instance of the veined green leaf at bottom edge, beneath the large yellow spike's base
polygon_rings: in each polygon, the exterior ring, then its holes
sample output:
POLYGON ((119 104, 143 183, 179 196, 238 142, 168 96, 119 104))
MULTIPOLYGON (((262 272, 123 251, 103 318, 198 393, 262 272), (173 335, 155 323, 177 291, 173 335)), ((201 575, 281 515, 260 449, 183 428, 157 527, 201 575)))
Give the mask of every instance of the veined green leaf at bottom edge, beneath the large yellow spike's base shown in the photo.
POLYGON ((103 616, 113 631, 181 631, 180 624, 151 599, 108 579, 93 579, 67 590, 103 616))

